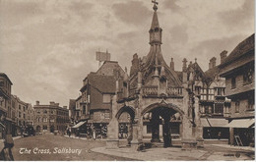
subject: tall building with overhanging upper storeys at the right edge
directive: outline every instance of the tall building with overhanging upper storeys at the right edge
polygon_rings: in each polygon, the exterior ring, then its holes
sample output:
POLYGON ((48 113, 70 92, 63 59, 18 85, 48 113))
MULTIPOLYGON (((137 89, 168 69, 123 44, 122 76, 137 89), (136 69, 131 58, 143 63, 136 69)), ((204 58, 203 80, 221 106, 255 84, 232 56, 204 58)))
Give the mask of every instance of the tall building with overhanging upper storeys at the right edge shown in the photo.
POLYGON ((220 65, 225 96, 231 100, 228 116, 230 144, 254 143, 255 61, 254 34, 240 42, 220 65), (239 138, 241 142, 239 142, 239 138))

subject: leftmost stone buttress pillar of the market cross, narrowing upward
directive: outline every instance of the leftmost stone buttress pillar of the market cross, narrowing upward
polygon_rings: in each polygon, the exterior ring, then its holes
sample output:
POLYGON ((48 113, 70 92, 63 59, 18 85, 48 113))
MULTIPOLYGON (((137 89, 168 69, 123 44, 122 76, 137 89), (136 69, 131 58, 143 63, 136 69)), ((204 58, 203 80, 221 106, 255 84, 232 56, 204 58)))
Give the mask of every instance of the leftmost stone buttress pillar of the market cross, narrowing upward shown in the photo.
POLYGON ((114 149, 119 148, 119 139, 118 139, 118 121, 115 118, 117 113, 117 95, 114 95, 112 98, 112 118, 107 126, 107 140, 106 140, 106 148, 107 149, 114 149))

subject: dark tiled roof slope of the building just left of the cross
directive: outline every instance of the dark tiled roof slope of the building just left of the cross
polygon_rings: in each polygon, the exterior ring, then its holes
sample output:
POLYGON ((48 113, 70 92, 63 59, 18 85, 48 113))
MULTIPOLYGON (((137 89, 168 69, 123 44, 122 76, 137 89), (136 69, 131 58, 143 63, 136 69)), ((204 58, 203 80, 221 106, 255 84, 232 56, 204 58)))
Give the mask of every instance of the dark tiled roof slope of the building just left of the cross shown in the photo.
POLYGON ((102 76, 96 74, 88 75, 88 80, 101 93, 114 93, 115 92, 115 78, 113 76, 102 76))

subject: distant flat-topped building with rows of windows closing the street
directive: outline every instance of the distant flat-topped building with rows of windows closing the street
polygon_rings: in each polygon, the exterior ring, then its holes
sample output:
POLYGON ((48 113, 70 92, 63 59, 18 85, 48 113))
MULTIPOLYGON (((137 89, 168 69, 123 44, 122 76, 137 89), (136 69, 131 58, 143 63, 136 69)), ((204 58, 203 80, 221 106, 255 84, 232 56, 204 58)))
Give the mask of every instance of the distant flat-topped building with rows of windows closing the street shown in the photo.
POLYGON ((34 129, 36 133, 64 133, 69 125, 69 111, 67 107, 60 107, 59 103, 50 102, 40 105, 39 101, 33 106, 34 129))

